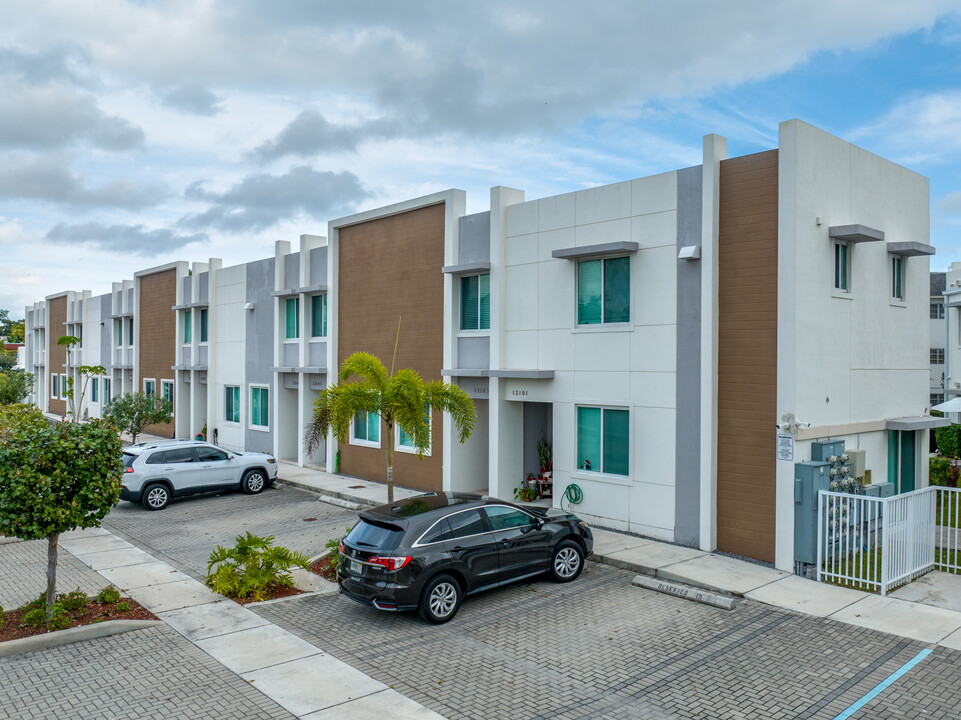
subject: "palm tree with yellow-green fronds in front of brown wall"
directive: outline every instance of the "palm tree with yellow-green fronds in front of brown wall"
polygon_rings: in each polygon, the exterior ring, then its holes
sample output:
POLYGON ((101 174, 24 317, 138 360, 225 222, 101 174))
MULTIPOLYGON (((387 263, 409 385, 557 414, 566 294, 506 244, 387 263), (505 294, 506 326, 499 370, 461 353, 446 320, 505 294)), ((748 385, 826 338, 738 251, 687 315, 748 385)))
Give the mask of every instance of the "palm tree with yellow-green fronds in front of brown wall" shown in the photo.
POLYGON ((380 415, 387 425, 387 502, 394 502, 394 425, 411 438, 417 457, 430 447, 428 412, 442 410, 457 426, 460 442, 474 429, 474 403, 456 385, 427 381, 415 370, 390 373, 370 353, 356 352, 340 369, 340 384, 327 387, 314 403, 314 417, 304 434, 307 452, 333 433, 341 443, 350 438, 350 424, 358 413, 380 415), (360 380, 348 382, 357 375, 360 380))

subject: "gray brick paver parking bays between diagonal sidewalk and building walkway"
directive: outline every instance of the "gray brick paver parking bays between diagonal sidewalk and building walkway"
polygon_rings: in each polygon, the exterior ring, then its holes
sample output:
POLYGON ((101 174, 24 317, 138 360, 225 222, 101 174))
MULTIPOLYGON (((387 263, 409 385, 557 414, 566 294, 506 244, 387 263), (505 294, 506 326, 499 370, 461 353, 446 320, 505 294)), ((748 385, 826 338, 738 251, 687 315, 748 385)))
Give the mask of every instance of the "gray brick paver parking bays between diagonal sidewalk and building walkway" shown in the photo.
MULTIPOLYGON (((313 554, 355 516, 282 488, 159 513, 121 504, 105 526, 202 577, 210 549, 245 530, 313 554)), ((588 563, 568 585, 545 580, 469 598, 438 627, 337 595, 256 612, 452 720, 828 720, 925 648, 750 601, 731 612, 695 605, 631 578, 588 563)), ((957 718, 958 667, 961 653, 936 648, 853 717, 957 718)))

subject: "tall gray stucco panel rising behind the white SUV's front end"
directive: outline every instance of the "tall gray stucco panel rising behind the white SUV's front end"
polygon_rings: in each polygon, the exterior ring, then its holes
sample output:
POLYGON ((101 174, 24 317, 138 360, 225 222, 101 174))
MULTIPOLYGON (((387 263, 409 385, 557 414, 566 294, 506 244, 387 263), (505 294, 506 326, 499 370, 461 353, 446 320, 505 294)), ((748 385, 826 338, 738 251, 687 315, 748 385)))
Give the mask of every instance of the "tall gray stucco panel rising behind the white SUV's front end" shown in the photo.
MULTIPOLYGON (((289 258, 290 256, 286 256, 289 258)), ((285 258, 286 260, 286 258, 285 258)), ((294 271, 296 285, 297 271, 294 271)), ((274 259, 266 258, 247 263, 247 297, 249 303, 254 304, 252 311, 246 311, 246 347, 245 358, 247 383, 267 385, 270 394, 271 416, 270 431, 247 429, 246 449, 254 452, 273 452, 274 428, 277 420, 273 417, 273 406, 276 403, 274 389, 274 373, 270 369, 274 361, 274 259)), ((242 391, 249 395, 250 390, 242 391)), ((248 400, 249 402, 249 400, 248 400)), ((247 403, 244 403, 246 407, 247 403)))

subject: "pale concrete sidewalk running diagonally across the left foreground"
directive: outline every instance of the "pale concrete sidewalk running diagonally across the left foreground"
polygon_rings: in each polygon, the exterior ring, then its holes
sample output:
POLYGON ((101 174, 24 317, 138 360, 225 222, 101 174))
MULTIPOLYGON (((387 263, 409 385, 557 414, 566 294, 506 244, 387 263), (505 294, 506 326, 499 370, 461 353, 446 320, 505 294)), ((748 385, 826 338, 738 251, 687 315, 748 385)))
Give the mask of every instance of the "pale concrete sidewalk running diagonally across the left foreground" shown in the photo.
POLYGON ((102 528, 60 546, 298 718, 443 720, 102 528))

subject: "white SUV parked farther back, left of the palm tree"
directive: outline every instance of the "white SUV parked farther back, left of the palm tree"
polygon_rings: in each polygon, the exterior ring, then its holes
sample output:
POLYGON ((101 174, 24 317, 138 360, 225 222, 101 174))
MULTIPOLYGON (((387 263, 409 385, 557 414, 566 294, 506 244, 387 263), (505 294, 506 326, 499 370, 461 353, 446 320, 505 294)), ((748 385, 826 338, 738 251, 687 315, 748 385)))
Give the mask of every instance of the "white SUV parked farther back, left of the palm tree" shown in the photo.
POLYGON ((120 499, 163 510, 171 498, 239 489, 254 495, 277 479, 265 453, 228 452, 205 442, 139 443, 123 450, 120 499))

